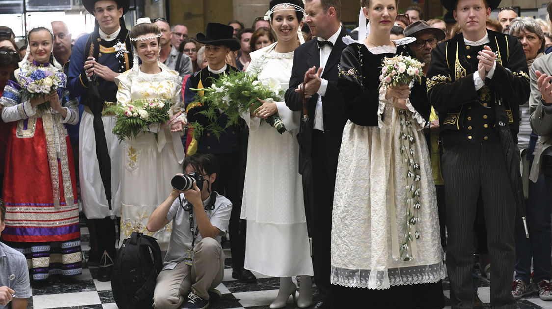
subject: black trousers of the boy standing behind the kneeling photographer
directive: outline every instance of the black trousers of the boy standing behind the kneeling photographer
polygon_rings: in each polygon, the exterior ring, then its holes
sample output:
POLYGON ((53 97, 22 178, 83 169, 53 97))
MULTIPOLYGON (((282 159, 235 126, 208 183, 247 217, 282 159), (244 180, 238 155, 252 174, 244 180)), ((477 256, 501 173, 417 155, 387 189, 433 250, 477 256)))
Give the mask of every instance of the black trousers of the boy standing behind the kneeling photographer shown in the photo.
POLYGON ((232 202, 228 232, 230 233, 232 268, 239 269, 243 268, 245 262, 246 221, 240 219, 245 163, 240 151, 214 153, 214 155, 219 160, 219 173, 216 175, 213 189, 232 202))

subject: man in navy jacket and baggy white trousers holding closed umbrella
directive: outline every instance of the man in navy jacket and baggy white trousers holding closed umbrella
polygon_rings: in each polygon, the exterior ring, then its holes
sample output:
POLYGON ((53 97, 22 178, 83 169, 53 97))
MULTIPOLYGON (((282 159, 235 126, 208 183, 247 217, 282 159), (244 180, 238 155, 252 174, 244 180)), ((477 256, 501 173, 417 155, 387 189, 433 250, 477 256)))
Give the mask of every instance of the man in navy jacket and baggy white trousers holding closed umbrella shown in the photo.
POLYGON ((98 280, 109 281, 115 258, 115 222, 121 213, 120 167, 122 147, 113 134, 115 117, 102 115, 116 103, 114 78, 132 67, 132 49, 123 14, 129 0, 83 0, 94 15, 94 31, 73 46, 67 88, 84 105, 79 130, 79 179, 84 214, 93 220, 91 240, 97 252, 89 264, 99 264, 98 280))

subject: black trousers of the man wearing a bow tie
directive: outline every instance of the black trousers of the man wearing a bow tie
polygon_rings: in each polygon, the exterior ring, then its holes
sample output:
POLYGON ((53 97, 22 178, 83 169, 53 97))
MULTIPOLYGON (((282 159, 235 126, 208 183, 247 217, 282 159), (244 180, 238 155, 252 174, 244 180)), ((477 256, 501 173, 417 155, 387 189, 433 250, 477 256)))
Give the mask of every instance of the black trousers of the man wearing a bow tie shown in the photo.
POLYGON ((328 157, 327 147, 323 132, 313 130, 311 157, 315 209, 312 214, 312 267, 322 299, 331 302, 330 249, 337 160, 333 162, 328 157))

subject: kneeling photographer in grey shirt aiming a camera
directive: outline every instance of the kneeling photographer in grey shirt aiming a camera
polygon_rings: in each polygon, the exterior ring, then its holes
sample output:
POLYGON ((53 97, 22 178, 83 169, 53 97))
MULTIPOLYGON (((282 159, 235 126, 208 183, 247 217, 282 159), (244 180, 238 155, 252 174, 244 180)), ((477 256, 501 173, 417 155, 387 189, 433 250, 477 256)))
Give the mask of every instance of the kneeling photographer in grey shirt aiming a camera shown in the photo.
POLYGON ((184 160, 185 175, 177 174, 173 190, 147 222, 155 232, 173 221, 163 270, 157 276, 153 307, 206 308, 224 277, 220 246, 230 220, 230 200, 213 191, 219 163, 211 153, 196 153, 184 160), (189 295, 188 295, 189 294, 189 295))

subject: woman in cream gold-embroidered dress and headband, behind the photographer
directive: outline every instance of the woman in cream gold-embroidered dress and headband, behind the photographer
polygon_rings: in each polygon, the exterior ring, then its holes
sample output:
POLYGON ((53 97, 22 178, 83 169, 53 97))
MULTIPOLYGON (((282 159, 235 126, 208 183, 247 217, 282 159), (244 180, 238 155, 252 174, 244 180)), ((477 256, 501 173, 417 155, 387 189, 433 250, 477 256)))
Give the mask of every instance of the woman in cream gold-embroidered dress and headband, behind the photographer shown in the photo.
POLYGON ((140 18, 138 22, 129 34, 135 50, 134 66, 115 78, 119 87, 117 104, 125 106, 134 100, 158 98, 169 100, 174 107, 167 124, 150 125, 148 132, 124 142, 120 239, 123 241, 132 232, 140 232, 157 238, 165 247, 171 236, 171 224, 152 233, 146 229, 146 223, 171 191, 174 173, 182 171, 184 148, 179 131, 187 120, 176 109, 182 100, 178 72, 159 62, 161 31, 149 18, 140 18))

